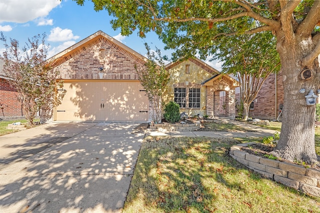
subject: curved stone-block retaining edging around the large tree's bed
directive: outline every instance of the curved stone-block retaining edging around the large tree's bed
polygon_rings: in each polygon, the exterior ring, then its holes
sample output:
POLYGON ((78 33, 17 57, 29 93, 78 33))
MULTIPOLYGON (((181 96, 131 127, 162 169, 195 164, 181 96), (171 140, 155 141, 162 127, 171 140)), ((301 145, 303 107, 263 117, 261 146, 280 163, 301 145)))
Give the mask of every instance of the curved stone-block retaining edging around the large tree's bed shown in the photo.
POLYGON ((285 186, 320 197, 320 171, 303 166, 261 158, 241 151, 245 143, 232 146, 230 156, 247 168, 285 186))

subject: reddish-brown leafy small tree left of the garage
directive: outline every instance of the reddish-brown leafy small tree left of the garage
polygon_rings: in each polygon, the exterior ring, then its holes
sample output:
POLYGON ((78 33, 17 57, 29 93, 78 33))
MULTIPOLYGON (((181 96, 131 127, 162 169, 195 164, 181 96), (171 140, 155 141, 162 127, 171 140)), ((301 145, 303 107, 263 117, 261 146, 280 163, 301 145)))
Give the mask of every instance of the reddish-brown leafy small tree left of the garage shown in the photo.
POLYGON ((17 99, 21 102, 25 118, 30 125, 40 110, 40 122, 45 122, 52 116, 53 107, 59 105, 65 94, 63 81, 56 80, 57 69, 52 69, 51 62, 46 61, 48 45, 45 44, 45 34, 35 35, 28 39, 20 49, 19 42, 10 38, 9 44, 1 33, 5 51, 3 72, 7 80, 17 91, 17 99))

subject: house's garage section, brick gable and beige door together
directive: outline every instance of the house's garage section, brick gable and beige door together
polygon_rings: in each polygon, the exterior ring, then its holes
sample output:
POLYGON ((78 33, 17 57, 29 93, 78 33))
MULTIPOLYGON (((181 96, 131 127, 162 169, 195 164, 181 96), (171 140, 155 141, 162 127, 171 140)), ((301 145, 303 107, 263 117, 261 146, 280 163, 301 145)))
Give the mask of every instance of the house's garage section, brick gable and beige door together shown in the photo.
POLYGON ((148 99, 135 70, 144 67, 144 56, 97 31, 52 60, 66 90, 53 111, 54 121, 150 120, 148 99))

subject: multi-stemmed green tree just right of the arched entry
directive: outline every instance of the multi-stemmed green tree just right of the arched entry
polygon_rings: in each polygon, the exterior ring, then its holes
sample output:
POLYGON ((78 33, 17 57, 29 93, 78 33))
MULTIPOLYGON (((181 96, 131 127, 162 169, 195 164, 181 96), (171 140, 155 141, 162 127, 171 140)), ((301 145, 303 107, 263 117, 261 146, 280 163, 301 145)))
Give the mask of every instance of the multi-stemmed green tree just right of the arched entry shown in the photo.
POLYGON ((223 36, 214 42, 210 50, 213 59, 223 61, 222 71, 232 73, 240 83, 243 120, 247 120, 250 104, 266 78, 280 68, 275 43, 276 39, 270 32, 260 32, 223 36))

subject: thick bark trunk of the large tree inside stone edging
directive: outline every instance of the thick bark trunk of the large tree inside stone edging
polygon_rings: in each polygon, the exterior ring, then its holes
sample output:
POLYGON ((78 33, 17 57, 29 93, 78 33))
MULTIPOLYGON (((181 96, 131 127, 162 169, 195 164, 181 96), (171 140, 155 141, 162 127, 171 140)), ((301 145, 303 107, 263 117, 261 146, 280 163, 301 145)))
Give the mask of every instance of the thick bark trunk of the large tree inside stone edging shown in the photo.
POLYGON ((277 46, 281 58, 283 75, 283 115, 279 142, 274 155, 290 161, 316 162, 317 156, 314 148, 315 106, 306 105, 305 97, 312 89, 316 93, 319 85, 317 74, 318 64, 312 67, 301 67, 300 61, 304 57, 305 49, 310 45, 306 41, 278 41, 277 46), (305 80, 301 78, 301 71, 309 68, 312 77, 305 80), (305 89, 305 93, 300 93, 305 89))

